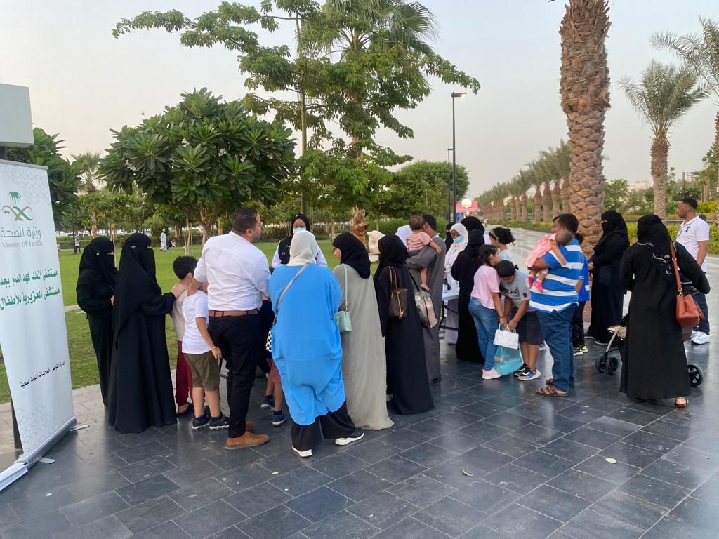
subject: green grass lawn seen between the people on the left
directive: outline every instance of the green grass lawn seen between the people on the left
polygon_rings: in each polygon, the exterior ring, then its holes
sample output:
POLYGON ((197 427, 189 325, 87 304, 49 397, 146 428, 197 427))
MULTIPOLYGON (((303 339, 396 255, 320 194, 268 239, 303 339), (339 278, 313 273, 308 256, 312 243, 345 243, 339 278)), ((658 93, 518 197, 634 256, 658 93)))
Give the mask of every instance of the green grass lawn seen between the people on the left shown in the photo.
MULTIPOLYGON (((319 246, 329 263, 329 267, 334 268, 338 262, 332 255, 332 245, 329 239, 319 241, 319 246)), ((259 243, 257 247, 267 256, 268 262, 272 263, 273 254, 277 244, 275 242, 259 243)), ((201 247, 195 246, 194 256, 200 256, 201 247)), ((184 249, 169 249, 162 252, 155 249, 155 259, 157 261, 157 282, 163 291, 169 292, 177 277, 173 273, 173 260, 185 254, 184 249)), ((116 262, 119 262, 119 249, 116 256, 116 262)), ((77 296, 75 295, 75 284, 78 280, 78 264, 80 264, 80 254, 73 254, 72 251, 60 252, 60 278, 63 282, 63 301, 65 305, 76 305, 77 296)), ((70 351, 70 371, 72 372, 73 387, 83 387, 86 385, 99 383, 97 372, 97 361, 95 352, 90 341, 90 330, 85 313, 81 310, 72 310, 65 313, 65 323, 68 326, 68 348, 70 351)), ((175 357, 177 356, 177 341, 175 341, 175 331, 173 329, 173 321, 168 316, 165 321, 168 336, 168 352, 170 354, 170 365, 175 368, 175 357)), ((0 362, 0 402, 10 400, 10 391, 5 373, 5 365, 0 362)))

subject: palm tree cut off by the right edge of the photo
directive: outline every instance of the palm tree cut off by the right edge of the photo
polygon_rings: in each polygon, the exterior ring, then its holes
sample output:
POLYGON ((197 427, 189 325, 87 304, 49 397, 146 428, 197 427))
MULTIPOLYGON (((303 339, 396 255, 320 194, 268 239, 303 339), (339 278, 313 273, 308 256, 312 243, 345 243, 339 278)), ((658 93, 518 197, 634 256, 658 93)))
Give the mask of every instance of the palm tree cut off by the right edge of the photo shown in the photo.
MULTIPOLYGON (((672 50, 694 68, 705 86, 719 97, 719 24, 711 19, 699 18, 700 34, 677 36, 672 32, 659 32, 651 37, 656 48, 672 50)), ((719 155, 719 112, 714 116, 714 155, 719 155)))

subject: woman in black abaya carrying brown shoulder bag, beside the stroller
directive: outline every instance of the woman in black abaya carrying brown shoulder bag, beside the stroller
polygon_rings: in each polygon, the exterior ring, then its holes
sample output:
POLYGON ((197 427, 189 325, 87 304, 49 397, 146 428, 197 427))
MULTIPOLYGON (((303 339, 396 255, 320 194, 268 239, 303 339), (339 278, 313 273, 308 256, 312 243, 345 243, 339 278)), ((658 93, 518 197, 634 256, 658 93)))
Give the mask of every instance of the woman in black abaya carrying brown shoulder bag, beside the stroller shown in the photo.
MULTIPOLYGON (((641 400, 673 398, 687 405, 690 392, 682 328, 677 323, 677 284, 669 251, 669 232, 656 215, 639 219, 638 242, 627 249, 621 282, 631 290, 626 346, 619 390, 641 400)), ((679 272, 700 292, 709 282, 681 244, 674 244, 679 272)))

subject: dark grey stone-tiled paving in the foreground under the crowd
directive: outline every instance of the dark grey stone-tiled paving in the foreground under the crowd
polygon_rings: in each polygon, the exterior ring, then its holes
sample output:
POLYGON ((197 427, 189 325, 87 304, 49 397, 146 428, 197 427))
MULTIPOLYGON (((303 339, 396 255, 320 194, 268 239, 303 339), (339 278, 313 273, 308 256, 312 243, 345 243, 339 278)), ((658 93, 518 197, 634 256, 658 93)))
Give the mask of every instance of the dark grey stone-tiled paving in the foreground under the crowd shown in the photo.
MULTIPOLYGON (((517 236, 520 260, 538 235, 517 236)), ((617 376, 597 373, 596 347, 577 358, 572 395, 551 400, 534 393, 539 382, 482 382, 450 346, 434 410, 393 416, 393 428, 351 446, 326 442, 307 460, 290 450, 290 425, 273 428, 260 410, 262 380, 249 418, 270 442, 239 451, 189 420, 122 436, 86 387, 73 395, 90 428, 0 492, 0 537, 715 539, 717 346, 687 345, 705 382, 685 411, 621 395, 617 376)), ((544 352, 539 368, 550 367, 544 352)))

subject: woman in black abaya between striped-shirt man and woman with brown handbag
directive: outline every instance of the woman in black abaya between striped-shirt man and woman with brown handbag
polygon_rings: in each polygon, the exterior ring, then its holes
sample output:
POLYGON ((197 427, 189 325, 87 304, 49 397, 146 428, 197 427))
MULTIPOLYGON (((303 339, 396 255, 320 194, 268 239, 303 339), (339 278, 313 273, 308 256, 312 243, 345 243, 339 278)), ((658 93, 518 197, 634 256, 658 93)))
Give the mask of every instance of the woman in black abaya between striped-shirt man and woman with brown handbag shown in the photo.
POLYGON ((597 344, 607 344, 608 328, 618 326, 622 319, 624 288, 619 277, 622 257, 629 247, 629 234, 621 213, 602 213, 602 237, 597 241, 589 260, 592 272, 592 323, 587 335, 597 344))

